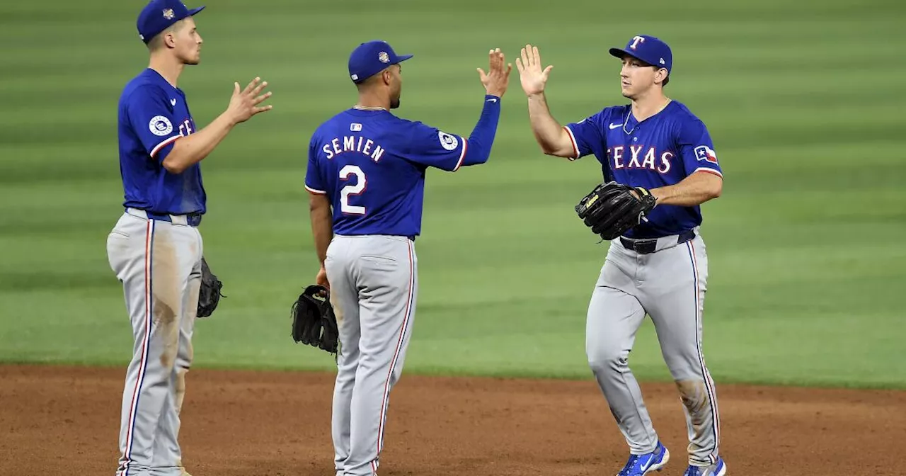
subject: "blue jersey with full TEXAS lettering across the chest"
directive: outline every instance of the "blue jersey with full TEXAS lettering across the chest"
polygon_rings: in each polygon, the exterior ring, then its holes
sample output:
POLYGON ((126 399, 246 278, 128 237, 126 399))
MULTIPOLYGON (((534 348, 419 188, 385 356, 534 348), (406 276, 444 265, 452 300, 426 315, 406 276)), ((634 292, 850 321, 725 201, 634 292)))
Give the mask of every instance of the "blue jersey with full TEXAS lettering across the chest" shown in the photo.
MULTIPOLYGON (((594 154, 604 180, 656 189, 704 171, 723 177, 708 128, 681 102, 671 101, 659 113, 636 121, 630 105, 605 108, 564 126, 573 141, 572 160, 594 154)), ((628 238, 676 235, 701 224, 701 209, 658 205, 648 222, 631 228, 628 238)))

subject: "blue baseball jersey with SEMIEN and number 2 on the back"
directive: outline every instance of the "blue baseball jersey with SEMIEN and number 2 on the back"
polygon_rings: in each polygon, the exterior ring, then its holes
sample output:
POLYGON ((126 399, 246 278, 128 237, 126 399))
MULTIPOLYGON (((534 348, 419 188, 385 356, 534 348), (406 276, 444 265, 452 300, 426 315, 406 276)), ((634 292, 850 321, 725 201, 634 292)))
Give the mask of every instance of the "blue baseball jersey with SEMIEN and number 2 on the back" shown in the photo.
POLYGON ((426 170, 458 170, 467 147, 465 138, 422 122, 349 109, 314 131, 305 189, 331 200, 338 235, 414 238, 421 233, 426 170))

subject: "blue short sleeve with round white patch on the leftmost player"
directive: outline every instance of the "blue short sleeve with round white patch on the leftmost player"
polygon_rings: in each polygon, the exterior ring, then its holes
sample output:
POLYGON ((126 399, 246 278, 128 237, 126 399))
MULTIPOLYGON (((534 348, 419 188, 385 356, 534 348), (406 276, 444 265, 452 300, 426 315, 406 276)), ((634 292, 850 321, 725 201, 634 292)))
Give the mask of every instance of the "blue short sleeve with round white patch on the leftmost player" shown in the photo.
POLYGON ((157 86, 142 86, 130 94, 126 107, 145 151, 154 159, 164 160, 173 142, 181 137, 173 127, 173 108, 167 95, 157 86))

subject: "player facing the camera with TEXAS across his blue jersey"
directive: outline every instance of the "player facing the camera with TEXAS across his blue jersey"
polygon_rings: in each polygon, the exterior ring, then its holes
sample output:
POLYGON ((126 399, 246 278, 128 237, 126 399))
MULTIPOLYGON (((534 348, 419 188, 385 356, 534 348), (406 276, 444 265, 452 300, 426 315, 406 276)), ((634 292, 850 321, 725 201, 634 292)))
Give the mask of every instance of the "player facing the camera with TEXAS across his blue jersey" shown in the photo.
POLYGON ((670 459, 627 365, 646 314, 686 412, 685 475, 724 476, 717 397, 701 349, 708 257, 699 235, 699 205, 720 195, 723 174, 705 124, 664 95, 673 63, 670 47, 637 35, 610 53, 622 60, 622 95, 630 103, 565 127, 554 120, 545 99, 553 66, 543 69, 537 47, 529 44, 516 68, 532 131, 545 154, 570 160, 594 154, 605 181, 638 187, 656 200, 647 221, 611 241, 588 306, 588 362, 631 452, 618 476, 660 471, 670 459))

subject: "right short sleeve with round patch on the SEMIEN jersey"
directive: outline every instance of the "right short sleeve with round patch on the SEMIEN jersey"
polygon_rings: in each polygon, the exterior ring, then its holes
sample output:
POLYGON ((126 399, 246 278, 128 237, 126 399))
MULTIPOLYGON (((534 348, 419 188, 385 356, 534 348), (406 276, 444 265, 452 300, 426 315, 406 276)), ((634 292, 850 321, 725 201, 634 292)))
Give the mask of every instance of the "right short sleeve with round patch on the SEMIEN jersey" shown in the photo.
POLYGON ((405 159, 428 167, 455 172, 462 166, 468 143, 466 138, 440 131, 422 122, 410 122, 400 139, 408 144, 405 159))

